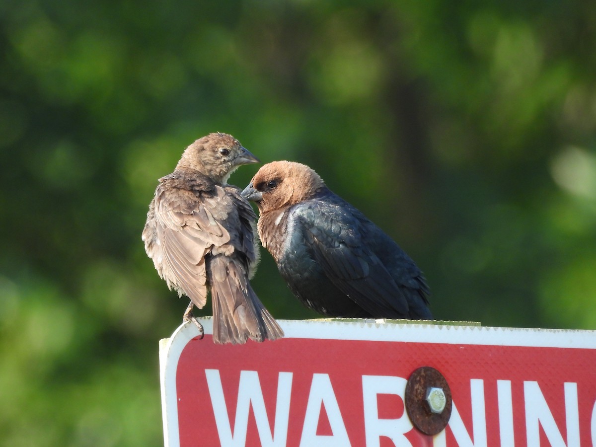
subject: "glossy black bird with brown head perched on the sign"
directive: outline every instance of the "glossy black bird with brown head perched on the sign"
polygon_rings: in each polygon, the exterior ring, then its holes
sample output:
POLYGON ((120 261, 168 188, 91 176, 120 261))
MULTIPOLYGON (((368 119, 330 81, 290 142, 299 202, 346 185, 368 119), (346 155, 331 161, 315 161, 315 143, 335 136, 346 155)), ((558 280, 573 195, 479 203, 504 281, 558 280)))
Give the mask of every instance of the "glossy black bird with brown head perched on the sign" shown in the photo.
POLYGON ((265 164, 242 195, 256 203, 260 241, 306 307, 331 317, 432 319, 414 261, 311 167, 265 164))

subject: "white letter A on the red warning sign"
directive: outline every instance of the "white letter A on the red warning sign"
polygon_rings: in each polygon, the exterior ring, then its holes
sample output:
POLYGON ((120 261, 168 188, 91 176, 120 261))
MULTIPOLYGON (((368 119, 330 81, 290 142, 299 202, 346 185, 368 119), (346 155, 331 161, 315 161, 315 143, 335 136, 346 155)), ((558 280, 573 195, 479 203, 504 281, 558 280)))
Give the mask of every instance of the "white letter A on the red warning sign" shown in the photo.
POLYGON ((348 447, 350 439, 347 437, 346 426, 343 423, 342 413, 339 411, 337 399, 329 380, 329 374, 313 374, 311 392, 306 404, 304 426, 300 447, 348 447), (317 435, 316 428, 321 416, 321 406, 325 405, 331 435, 317 435))

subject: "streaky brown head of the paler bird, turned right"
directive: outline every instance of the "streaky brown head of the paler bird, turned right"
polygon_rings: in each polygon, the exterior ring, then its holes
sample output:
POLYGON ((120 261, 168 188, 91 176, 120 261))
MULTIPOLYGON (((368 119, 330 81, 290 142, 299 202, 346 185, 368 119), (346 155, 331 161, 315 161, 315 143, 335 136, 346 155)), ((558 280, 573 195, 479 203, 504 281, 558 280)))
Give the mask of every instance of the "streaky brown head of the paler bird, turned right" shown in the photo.
POLYGON ((226 184, 238 166, 259 163, 232 135, 209 134, 188 146, 176 169, 193 169, 209 176, 219 184, 226 184))

